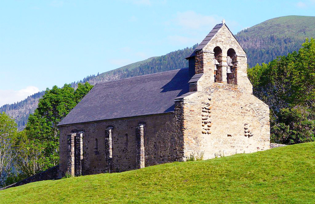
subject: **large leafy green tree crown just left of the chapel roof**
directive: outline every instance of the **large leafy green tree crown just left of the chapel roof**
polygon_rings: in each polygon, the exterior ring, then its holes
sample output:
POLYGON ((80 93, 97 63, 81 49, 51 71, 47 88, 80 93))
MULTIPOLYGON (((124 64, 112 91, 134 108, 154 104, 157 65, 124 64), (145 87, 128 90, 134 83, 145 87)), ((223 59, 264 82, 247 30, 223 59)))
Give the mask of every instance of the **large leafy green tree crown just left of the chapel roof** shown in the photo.
POLYGON ((41 160, 38 170, 43 170, 58 163, 59 132, 58 123, 76 105, 74 89, 69 84, 58 88, 46 89, 39 100, 34 114, 29 116, 26 124, 26 136, 37 144, 41 160))

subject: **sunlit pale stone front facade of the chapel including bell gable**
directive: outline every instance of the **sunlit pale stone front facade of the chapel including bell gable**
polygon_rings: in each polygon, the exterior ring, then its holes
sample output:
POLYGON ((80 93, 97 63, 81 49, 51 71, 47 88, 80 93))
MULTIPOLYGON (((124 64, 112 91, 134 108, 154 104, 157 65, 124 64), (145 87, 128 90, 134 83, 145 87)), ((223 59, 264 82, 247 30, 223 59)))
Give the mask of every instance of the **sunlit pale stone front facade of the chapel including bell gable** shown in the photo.
POLYGON ((247 78, 246 53, 223 25, 213 39, 195 56, 195 72, 204 73, 197 82, 197 93, 182 101, 184 118, 184 157, 204 153, 204 159, 269 149, 269 107, 252 93, 247 78), (222 81, 215 83, 214 48, 222 58, 222 81), (227 82, 227 51, 232 48, 233 77, 227 82))

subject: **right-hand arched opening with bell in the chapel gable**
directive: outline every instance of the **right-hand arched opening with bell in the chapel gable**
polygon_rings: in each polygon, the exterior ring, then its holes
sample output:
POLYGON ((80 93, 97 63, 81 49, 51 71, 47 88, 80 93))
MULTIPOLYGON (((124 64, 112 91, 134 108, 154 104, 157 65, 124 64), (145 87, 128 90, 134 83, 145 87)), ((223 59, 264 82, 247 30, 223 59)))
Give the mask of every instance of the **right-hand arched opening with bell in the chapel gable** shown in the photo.
POLYGON ((234 49, 227 50, 226 62, 226 81, 230 84, 237 84, 237 55, 234 49))

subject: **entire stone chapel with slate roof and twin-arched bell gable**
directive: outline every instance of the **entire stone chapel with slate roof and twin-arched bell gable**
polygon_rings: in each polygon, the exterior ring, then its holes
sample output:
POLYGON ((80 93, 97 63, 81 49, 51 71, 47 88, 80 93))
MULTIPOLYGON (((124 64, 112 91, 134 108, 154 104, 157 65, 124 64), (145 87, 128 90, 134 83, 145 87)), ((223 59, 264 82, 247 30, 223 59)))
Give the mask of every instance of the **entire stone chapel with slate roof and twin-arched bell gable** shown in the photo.
POLYGON ((60 177, 269 149, 268 105, 224 21, 186 59, 188 68, 96 84, 59 123, 60 177))

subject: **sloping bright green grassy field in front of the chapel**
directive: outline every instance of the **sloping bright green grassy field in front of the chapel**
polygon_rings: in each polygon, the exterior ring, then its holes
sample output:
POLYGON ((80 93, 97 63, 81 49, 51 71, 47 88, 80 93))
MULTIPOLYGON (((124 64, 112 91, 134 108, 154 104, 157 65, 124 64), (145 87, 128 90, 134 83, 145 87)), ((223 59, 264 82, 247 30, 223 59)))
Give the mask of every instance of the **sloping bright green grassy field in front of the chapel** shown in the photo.
POLYGON ((40 181, 0 203, 315 203, 315 142, 205 161, 40 181))

